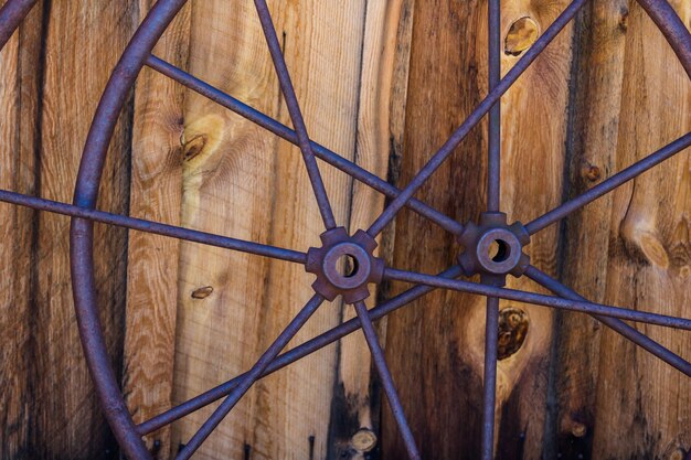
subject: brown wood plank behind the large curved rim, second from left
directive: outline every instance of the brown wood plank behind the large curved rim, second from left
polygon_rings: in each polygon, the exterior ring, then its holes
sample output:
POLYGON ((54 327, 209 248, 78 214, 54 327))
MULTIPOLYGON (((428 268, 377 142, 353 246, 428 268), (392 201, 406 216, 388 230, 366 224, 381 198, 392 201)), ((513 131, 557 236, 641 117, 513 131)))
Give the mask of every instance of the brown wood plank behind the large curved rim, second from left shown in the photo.
MULTIPOLYGON (((136 25, 130 2, 50 2, 42 87, 40 195, 72 200, 86 133, 109 72, 136 25), (103 29, 107 26, 108 33, 103 29)), ((131 114, 121 117, 98 205, 127 211, 131 114)), ((72 307, 68 220, 41 214, 35 246, 36 458, 114 458, 82 354, 72 307)), ((120 368, 125 309, 126 233, 96 227, 98 307, 106 344, 120 368)))

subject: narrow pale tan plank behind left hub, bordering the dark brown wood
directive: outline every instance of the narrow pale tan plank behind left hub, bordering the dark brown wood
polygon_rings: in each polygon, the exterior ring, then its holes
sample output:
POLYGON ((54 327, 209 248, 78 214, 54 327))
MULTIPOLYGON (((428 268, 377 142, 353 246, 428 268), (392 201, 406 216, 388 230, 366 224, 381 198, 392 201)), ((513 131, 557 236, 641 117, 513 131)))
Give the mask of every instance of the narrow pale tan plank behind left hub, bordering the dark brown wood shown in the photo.
MULTIPOLYGON (((392 107, 405 105, 405 89, 396 93, 407 72, 405 51, 398 50, 398 40, 410 40, 410 21, 406 10, 410 2, 395 0, 368 2, 362 43, 361 74, 359 82, 358 132, 354 159, 370 172, 385 178, 392 152, 392 107)), ((397 120, 396 120, 397 121, 397 120)), ((353 181, 350 185, 350 234, 366 228, 381 213, 384 196, 371 188, 353 181)), ((380 238, 378 254, 387 257, 392 235, 380 238), (382 239, 389 239, 383 242, 382 239)), ((378 292, 371 289, 369 306, 374 304, 378 292)), ((351 306, 343 306, 343 319, 355 317, 351 306)), ((380 324, 380 330, 383 329, 380 324)), ((382 336, 383 339, 383 336, 382 336)), ((341 340, 338 349, 338 375, 333 392, 331 428, 329 432, 330 459, 364 459, 378 447, 379 399, 372 389, 369 347, 362 333, 357 332, 341 340)))

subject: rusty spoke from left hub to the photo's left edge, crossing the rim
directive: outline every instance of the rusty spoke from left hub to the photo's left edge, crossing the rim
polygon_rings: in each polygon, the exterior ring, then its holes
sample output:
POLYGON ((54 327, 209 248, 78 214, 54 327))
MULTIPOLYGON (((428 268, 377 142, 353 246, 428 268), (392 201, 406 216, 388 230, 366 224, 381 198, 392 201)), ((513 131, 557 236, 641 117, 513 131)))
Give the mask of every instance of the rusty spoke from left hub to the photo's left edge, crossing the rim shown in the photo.
POLYGON ((111 214, 94 208, 79 207, 73 204, 23 195, 21 193, 10 192, 7 190, 0 190, 0 201, 33 207, 34 210, 49 211, 51 213, 68 215, 72 217, 82 217, 88 221, 116 225, 118 227, 170 236, 178 239, 187 239, 189 242, 201 243, 209 246, 223 247, 225 249, 233 249, 297 264, 305 264, 307 260, 307 254, 293 249, 284 249, 261 243, 246 242, 227 236, 178 227, 174 225, 161 224, 159 222, 128 217, 120 214, 111 214))

